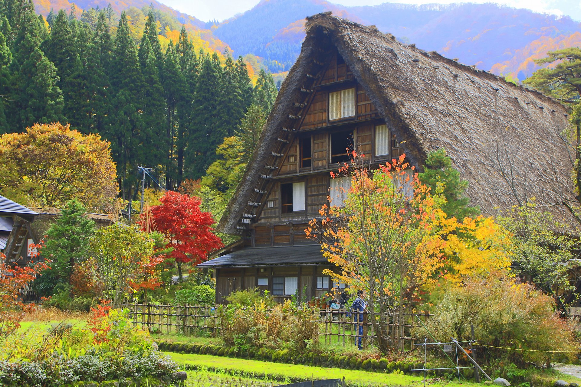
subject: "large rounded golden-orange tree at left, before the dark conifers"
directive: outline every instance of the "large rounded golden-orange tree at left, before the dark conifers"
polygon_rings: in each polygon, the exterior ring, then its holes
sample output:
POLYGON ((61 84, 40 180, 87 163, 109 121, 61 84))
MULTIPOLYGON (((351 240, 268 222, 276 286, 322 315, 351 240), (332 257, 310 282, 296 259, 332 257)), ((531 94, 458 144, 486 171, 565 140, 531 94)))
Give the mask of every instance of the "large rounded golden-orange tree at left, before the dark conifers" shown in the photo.
POLYGON ((2 135, 0 169, 0 193, 26 205, 62 207, 76 198, 107 211, 117 195, 109 143, 58 122, 2 135))

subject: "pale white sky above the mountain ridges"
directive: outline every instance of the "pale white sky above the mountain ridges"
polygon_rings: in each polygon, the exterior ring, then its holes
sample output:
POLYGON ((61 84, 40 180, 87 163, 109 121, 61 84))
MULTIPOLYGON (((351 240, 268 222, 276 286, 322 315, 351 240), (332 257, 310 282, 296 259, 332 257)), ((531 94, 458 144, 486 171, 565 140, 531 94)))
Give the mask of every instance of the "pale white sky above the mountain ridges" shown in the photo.
MULTIPOLYGON (((218 20, 223 21, 245 12, 259 3, 258 0, 160 0, 162 3, 177 9, 188 15, 195 16, 203 21, 218 20)), ((354 6, 354 5, 377 5, 385 0, 328 0, 329 2, 354 6)), ((574 20, 581 21, 581 0, 394 0, 390 2, 406 4, 426 4, 426 3, 454 3, 454 2, 497 2, 515 8, 527 8, 535 12, 553 13, 555 15, 571 16, 574 20)))

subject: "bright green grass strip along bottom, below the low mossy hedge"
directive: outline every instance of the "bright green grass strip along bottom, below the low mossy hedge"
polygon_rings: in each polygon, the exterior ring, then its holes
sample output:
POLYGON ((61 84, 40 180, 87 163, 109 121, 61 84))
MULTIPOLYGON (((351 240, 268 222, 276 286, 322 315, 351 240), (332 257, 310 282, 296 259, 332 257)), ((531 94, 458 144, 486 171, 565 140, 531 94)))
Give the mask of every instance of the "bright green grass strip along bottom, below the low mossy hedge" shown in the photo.
MULTIPOLYGON (((178 364, 186 368, 201 369, 204 371, 230 372, 242 377, 288 379, 290 381, 307 381, 312 379, 337 379, 345 377, 349 385, 360 386, 423 386, 421 377, 403 374, 382 374, 379 372, 343 370, 341 368, 323 368, 303 366, 302 364, 281 364, 270 361, 233 359, 230 357, 211 355, 186 355, 166 352, 178 364)), ((435 385, 431 383, 431 385, 435 385)), ((439 383, 441 386, 476 386, 470 382, 439 383)))

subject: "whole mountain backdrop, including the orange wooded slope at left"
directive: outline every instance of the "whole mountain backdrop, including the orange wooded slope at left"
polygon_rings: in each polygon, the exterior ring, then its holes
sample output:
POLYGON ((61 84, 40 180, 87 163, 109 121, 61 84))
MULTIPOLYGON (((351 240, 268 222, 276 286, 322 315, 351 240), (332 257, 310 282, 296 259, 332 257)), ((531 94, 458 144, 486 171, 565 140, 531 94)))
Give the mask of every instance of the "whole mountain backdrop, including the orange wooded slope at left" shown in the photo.
MULTIPOLYGON (((78 0, 77 12, 109 0, 78 0)), ((333 12, 361 24, 375 25, 400 41, 418 48, 435 50, 459 62, 496 74, 511 74, 524 79, 538 67, 533 59, 548 50, 579 45, 581 24, 570 17, 535 13, 494 3, 455 3, 450 5, 406 5, 383 3, 375 6, 347 7, 324 0, 262 0, 252 9, 222 23, 203 23, 157 0, 116 0, 116 13, 128 12, 135 35, 141 36, 139 10, 149 7, 167 15, 162 22, 162 43, 177 38, 179 24, 195 40, 196 47, 235 56, 246 56, 253 70, 265 67, 272 73, 289 70, 299 55, 304 38, 304 19, 320 12, 333 12), (164 28, 165 24, 170 24, 164 28), (173 23, 173 24, 172 24, 173 23)), ((35 0, 37 12, 48 15, 51 8, 69 9, 70 0, 35 0)))

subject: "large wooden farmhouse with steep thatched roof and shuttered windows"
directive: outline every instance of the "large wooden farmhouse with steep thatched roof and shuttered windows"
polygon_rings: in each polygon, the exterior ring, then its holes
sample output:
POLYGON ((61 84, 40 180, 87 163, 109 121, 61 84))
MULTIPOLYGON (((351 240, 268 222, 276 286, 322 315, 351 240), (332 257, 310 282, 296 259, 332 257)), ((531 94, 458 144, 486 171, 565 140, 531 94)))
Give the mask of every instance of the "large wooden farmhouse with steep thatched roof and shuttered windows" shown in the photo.
POLYGON ((472 205, 496 214, 535 197, 573 224, 573 155, 560 133, 568 125, 557 101, 464 66, 393 35, 321 13, 306 37, 251 161, 217 227, 241 240, 200 267, 214 269, 216 301, 236 289, 260 288, 282 301, 333 287, 331 268, 304 229, 348 179, 331 171, 346 149, 374 165, 406 154, 420 171, 444 148, 468 180, 472 205))

